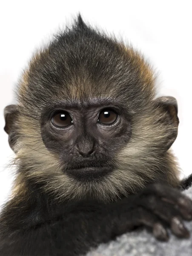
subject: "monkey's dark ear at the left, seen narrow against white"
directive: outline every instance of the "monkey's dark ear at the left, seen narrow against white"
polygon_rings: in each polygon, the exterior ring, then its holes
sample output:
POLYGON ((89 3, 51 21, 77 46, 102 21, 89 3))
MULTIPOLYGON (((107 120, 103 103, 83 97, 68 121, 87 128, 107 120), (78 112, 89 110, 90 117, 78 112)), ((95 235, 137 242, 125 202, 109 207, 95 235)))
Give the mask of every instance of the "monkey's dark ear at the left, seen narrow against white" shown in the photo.
POLYGON ((8 105, 4 108, 5 127, 4 130, 9 135, 9 145, 14 151, 17 133, 15 128, 15 121, 18 116, 17 105, 8 105))

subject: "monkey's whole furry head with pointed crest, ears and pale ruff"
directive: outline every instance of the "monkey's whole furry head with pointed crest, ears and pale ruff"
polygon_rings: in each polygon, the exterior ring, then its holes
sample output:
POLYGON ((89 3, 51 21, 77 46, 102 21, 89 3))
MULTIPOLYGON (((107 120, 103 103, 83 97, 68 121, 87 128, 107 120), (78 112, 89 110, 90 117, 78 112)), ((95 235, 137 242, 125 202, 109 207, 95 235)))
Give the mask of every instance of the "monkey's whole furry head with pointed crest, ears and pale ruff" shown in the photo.
POLYGON ((155 99, 154 80, 138 52, 78 17, 34 55, 17 105, 5 108, 21 183, 61 200, 112 200, 157 180, 176 186, 168 149, 177 102, 155 99))

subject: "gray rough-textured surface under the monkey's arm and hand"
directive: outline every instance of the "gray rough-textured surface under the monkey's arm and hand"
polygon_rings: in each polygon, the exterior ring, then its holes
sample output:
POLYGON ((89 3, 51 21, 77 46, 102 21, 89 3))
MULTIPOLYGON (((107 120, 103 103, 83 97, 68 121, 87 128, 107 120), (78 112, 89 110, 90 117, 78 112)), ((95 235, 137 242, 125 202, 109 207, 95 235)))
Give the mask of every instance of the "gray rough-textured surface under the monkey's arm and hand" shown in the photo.
MULTIPOLYGON (((192 198, 192 188, 184 193, 192 198)), ((192 256, 192 221, 186 222, 186 227, 191 231, 189 239, 178 239, 170 234, 168 242, 160 242, 146 230, 135 230, 115 241, 100 244, 87 256, 192 256)))

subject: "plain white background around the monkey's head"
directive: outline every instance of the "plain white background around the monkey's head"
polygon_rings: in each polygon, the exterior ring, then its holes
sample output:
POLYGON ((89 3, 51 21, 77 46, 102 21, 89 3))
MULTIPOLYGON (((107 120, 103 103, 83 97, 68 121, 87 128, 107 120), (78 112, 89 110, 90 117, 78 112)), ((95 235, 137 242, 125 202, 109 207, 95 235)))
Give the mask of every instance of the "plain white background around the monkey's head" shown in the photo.
POLYGON ((191 168, 192 132, 192 2, 190 0, 41 1, 0 2, 0 204, 9 192, 14 157, 3 131, 3 108, 14 102, 13 88, 34 49, 81 13, 93 26, 123 36, 141 50, 158 73, 160 95, 175 96, 179 106, 179 133, 173 150, 181 176, 191 168))

